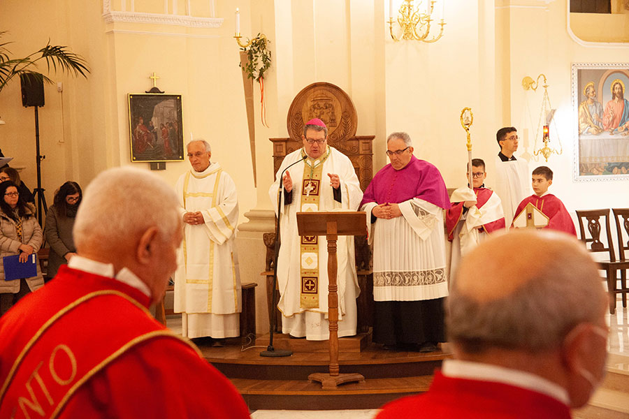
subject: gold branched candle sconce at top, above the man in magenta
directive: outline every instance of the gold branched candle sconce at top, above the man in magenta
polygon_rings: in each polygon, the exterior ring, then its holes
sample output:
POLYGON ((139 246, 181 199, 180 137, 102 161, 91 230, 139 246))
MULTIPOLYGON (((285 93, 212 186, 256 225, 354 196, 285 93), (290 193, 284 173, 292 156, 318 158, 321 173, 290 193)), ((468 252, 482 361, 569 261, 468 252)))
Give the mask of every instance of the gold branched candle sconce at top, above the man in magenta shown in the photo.
MULTIPOLYGON (((443 20, 443 6, 445 0, 440 0, 441 4, 441 22, 438 24, 441 26, 439 34, 428 39, 428 35, 431 32, 431 22, 434 22, 433 11, 437 0, 419 0, 417 6, 414 5, 414 0, 404 0, 398 10, 398 28, 401 30, 401 35, 393 33, 393 0, 389 0, 389 31, 391 32, 391 38, 393 41, 401 41, 403 39, 407 41, 422 41, 426 43, 432 43, 438 41, 443 36, 443 26, 445 24, 443 20)), ((396 30, 396 32, 400 32, 396 30)))

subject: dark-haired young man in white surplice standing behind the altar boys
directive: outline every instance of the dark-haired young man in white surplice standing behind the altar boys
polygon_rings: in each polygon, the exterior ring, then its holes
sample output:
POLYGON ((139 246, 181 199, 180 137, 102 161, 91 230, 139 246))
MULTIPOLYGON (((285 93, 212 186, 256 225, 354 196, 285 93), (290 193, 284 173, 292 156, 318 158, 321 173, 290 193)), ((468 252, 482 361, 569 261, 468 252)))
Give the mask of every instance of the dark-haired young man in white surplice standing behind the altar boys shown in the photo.
POLYGON ((496 187, 505 212, 505 224, 511 226, 515 210, 521 200, 530 195, 528 162, 516 159, 513 154, 518 149, 518 132, 512 126, 500 128, 496 133, 500 152, 496 157, 496 187))

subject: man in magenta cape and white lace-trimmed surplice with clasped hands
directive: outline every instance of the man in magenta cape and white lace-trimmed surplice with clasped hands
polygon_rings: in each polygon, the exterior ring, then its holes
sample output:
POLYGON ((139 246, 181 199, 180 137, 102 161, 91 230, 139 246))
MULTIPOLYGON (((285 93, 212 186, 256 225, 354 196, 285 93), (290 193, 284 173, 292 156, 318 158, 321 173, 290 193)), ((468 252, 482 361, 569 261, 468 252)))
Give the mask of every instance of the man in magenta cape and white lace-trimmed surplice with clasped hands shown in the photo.
POLYGON ((413 155, 407 133, 389 135, 386 155, 391 163, 376 173, 361 203, 373 243, 373 341, 432 352, 444 341, 448 192, 439 170, 413 155))

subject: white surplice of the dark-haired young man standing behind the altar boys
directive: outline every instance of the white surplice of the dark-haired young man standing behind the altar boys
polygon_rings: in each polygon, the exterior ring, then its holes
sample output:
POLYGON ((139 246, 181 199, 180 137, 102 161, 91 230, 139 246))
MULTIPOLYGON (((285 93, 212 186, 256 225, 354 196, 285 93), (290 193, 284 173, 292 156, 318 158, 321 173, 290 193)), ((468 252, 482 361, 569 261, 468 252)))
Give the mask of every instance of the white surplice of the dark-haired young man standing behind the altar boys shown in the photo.
POLYGON ((528 162, 523 159, 501 161, 496 156, 496 187, 505 212, 507 229, 511 226, 515 210, 524 198, 530 195, 530 172, 528 162))

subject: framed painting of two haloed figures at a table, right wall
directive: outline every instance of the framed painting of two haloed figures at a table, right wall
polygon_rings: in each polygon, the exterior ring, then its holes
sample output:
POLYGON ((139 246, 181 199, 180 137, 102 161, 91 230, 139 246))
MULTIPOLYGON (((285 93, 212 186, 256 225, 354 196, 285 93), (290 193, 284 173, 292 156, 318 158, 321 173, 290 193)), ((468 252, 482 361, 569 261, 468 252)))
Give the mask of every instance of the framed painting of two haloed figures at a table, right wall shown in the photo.
POLYGON ((629 179, 629 63, 572 64, 574 179, 629 179))

